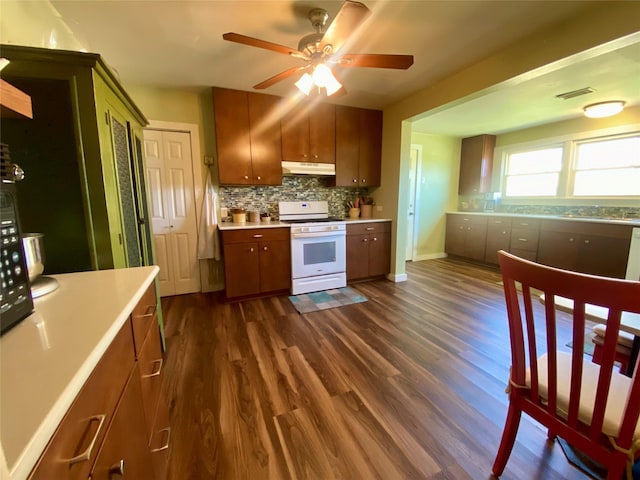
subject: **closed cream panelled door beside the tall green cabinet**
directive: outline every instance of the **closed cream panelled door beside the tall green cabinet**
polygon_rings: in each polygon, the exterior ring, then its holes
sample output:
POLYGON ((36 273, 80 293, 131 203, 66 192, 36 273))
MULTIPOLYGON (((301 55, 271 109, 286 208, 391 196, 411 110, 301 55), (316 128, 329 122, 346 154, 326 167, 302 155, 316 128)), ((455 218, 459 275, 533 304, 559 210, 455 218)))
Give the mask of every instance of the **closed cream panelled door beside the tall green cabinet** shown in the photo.
POLYGON ((160 296, 199 292, 190 135, 145 130, 144 145, 160 296))

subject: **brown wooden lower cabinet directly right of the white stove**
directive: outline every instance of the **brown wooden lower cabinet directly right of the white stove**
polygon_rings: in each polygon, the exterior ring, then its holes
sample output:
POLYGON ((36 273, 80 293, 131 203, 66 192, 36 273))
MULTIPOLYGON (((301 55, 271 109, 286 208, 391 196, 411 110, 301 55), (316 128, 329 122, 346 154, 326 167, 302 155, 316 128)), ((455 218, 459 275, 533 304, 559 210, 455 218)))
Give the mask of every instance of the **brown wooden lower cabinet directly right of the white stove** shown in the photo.
POLYGON ((391 222, 347 224, 347 281, 386 275, 391 265, 391 222))

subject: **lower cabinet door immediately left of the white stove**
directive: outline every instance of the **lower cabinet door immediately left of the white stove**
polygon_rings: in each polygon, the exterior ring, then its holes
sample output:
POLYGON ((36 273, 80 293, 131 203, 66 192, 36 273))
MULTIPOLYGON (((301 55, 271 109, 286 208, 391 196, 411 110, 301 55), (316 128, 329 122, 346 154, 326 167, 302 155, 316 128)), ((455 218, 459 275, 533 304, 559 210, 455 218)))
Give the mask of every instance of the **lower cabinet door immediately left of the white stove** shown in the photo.
POLYGON ((260 242, 260 291, 286 290, 291 286, 291 242, 260 242))

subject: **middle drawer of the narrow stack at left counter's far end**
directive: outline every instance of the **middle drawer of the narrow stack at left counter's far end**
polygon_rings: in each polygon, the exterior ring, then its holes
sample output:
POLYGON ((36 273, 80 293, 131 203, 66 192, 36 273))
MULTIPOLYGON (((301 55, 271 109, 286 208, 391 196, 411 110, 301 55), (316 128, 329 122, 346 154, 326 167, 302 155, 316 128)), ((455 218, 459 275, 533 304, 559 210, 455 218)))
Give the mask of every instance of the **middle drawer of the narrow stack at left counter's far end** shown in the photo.
POLYGON ((144 404, 144 418, 147 425, 147 438, 151 439, 153 422, 160 398, 163 377, 162 348, 160 333, 153 329, 142 347, 140 355, 140 383, 142 386, 142 403, 144 404))

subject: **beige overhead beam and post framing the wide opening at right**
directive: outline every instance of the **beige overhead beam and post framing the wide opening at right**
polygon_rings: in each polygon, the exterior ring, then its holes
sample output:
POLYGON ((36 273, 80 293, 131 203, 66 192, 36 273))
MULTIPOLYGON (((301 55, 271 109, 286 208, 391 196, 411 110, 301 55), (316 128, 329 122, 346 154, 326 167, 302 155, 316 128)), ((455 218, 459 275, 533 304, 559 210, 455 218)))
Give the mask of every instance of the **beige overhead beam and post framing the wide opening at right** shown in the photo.
POLYGON ((406 183, 411 143, 410 119, 447 108, 500 88, 524 75, 542 74, 566 62, 588 58, 637 41, 640 2, 599 5, 586 13, 537 32, 384 110, 383 185, 374 192, 385 216, 394 220, 391 277, 405 276, 404 248, 408 206, 406 183), (625 38, 626 37, 626 38, 625 38))

